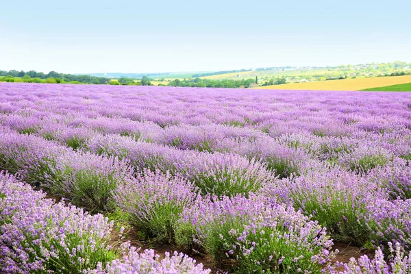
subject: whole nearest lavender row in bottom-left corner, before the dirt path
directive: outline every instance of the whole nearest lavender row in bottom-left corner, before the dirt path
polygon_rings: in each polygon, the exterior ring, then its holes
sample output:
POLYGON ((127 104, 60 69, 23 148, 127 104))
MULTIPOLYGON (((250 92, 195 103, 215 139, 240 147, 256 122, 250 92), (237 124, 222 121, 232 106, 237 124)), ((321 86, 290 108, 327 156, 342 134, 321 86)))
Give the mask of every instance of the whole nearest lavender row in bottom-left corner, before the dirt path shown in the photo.
POLYGON ((160 260, 152 249, 112 246, 112 227, 0 173, 1 273, 210 273, 182 253, 160 260))

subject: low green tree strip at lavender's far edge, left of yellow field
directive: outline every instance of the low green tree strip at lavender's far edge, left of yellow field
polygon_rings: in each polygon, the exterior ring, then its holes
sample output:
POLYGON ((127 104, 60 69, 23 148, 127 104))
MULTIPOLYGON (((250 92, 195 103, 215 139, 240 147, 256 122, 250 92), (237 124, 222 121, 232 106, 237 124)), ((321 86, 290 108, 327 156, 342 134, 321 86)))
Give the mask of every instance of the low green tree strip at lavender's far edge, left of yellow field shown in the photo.
MULTIPOLYGON (((223 79, 223 80, 212 80, 212 79, 200 79, 199 77, 194 79, 174 79, 169 82, 168 86, 187 86, 187 87, 197 87, 197 88, 248 88, 251 83, 256 83, 256 79, 223 79)), ((159 85, 160 86, 160 85, 159 85)))

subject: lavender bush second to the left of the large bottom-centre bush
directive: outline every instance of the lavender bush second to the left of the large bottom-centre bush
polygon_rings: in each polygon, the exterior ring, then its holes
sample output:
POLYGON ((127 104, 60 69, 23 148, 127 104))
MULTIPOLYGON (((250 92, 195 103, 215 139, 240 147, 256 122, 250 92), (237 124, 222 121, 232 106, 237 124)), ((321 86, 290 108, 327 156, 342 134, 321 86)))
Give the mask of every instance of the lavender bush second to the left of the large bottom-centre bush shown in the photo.
POLYGON ((43 187, 92 212, 114 207, 112 191, 132 177, 126 162, 91 153, 65 153, 55 159, 43 187))

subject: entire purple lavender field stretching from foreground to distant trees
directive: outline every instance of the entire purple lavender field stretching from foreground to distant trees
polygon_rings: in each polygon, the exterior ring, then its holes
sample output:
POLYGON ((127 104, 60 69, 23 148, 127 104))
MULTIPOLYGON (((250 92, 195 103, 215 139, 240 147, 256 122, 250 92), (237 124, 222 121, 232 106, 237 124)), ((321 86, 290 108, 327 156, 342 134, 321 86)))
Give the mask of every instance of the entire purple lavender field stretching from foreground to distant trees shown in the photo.
POLYGON ((0 272, 411 273, 410 162, 409 93, 0 83, 0 272))

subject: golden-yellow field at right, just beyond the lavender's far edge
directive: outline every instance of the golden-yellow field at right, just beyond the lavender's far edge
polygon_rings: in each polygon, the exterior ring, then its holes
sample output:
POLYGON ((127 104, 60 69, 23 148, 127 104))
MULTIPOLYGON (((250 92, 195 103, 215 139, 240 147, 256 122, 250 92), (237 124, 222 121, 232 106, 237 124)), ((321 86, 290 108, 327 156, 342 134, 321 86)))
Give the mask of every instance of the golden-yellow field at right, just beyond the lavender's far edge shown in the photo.
POLYGON ((329 80, 275 86, 259 86, 258 88, 272 90, 364 90, 366 88, 379 88, 382 86, 407 83, 411 83, 411 75, 329 80))

